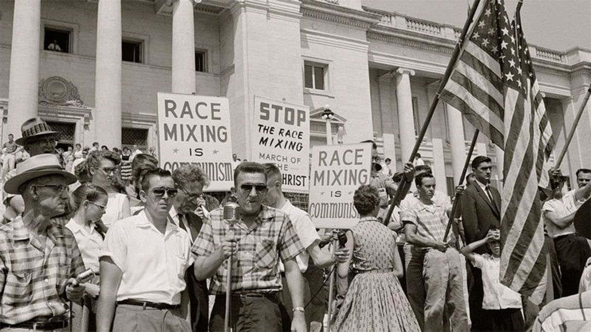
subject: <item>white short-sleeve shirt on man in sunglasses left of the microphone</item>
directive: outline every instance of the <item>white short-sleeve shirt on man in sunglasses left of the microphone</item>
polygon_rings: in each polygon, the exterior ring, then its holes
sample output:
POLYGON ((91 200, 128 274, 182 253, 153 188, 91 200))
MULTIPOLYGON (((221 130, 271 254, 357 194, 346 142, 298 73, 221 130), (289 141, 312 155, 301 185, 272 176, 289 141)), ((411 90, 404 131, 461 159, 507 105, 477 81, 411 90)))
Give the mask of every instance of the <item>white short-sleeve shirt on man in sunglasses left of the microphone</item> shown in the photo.
POLYGON ((145 210, 109 228, 101 257, 121 269, 117 301, 139 300, 177 305, 185 289, 184 274, 193 263, 187 232, 167 222, 164 234, 145 210))

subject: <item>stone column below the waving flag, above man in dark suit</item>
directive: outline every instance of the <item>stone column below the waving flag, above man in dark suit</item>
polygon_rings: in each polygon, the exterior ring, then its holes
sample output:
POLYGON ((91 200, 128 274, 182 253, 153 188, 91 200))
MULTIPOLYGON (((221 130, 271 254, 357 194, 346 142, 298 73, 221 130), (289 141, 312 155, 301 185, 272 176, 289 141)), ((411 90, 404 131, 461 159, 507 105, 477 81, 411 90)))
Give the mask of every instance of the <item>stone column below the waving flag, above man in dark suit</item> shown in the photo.
MULTIPOLYGON (((466 138, 462 113, 452 105, 446 104, 447 123, 449 124, 449 142, 452 151, 453 183, 460 183, 460 175, 466 162, 466 138)), ((466 173, 468 175, 469 173, 466 173)))

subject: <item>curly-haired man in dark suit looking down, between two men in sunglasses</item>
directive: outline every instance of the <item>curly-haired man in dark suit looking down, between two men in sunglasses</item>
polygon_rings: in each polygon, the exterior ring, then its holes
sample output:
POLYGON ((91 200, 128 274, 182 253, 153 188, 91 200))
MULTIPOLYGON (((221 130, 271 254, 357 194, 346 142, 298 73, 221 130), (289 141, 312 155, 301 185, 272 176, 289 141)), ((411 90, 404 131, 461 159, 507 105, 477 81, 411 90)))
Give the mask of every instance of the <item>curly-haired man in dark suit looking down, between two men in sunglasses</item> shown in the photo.
MULTIPOLYGON (((189 233, 193 245, 203 226, 203 187, 207 183, 207 177, 199 166, 183 165, 173 171, 173 179, 178 194, 174 197, 169 215, 175 224, 189 233), (197 211, 197 214, 194 211, 197 211)), ((187 269, 185 281, 189 289, 191 328, 193 331, 207 331, 209 301, 206 281, 198 281, 195 278, 193 266, 187 269)))

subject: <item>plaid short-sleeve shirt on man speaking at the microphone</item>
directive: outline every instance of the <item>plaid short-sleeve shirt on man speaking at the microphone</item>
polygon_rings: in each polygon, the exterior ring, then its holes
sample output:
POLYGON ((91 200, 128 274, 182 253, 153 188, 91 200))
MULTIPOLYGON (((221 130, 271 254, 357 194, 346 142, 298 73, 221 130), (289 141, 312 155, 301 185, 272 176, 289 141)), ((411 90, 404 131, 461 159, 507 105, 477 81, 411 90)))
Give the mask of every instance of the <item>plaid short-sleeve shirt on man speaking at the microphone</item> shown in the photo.
MULTIPOLYGON (((223 220, 223 210, 213 210, 193 243, 196 256, 209 256, 219 249, 222 240, 231 235, 230 226, 223 220)), ((296 230, 287 214, 281 210, 262 206, 249 229, 240 220, 233 226, 240 237, 238 249, 232 259, 233 292, 275 292, 281 289, 279 259, 288 261, 304 251, 296 230)), ((226 292, 228 260, 224 261, 212 278, 212 294, 226 292)))

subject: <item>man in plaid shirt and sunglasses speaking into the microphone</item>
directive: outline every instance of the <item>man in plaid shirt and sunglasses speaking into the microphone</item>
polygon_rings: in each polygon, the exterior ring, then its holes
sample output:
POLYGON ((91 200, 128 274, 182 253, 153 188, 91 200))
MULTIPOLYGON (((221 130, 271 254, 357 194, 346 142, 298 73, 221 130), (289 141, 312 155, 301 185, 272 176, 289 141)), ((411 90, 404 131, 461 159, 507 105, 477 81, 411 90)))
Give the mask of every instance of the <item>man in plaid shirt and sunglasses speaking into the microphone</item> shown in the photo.
POLYGON ((267 194, 264 166, 242 162, 234 171, 234 185, 242 209, 238 223, 230 226, 223 220, 223 209, 212 211, 191 249, 196 278, 212 278, 210 292, 216 295, 210 330, 223 330, 226 259, 233 255, 230 326, 236 331, 281 331, 281 259, 293 303, 291 330, 306 331, 303 278, 296 262, 304 248, 287 214, 262 205, 267 194))

